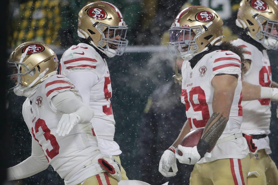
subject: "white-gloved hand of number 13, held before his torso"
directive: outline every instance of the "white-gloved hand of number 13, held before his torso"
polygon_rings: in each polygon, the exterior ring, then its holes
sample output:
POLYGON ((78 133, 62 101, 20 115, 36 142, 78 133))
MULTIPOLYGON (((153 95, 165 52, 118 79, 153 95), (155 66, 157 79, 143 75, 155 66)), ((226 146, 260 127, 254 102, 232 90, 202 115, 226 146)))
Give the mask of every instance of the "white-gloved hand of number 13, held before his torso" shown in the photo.
POLYGON ((63 114, 58 123, 56 134, 65 136, 73 129, 73 127, 80 122, 80 116, 75 113, 63 114))

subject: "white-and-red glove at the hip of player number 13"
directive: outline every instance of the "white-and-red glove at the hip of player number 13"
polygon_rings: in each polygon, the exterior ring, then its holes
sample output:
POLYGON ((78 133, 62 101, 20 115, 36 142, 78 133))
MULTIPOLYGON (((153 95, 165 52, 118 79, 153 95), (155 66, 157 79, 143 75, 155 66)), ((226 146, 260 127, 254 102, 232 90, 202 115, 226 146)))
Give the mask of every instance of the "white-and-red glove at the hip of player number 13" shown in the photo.
POLYGON ((104 156, 98 159, 98 163, 102 168, 110 173, 112 177, 114 177, 118 182, 122 179, 121 175, 121 166, 120 164, 114 159, 113 156, 104 156))

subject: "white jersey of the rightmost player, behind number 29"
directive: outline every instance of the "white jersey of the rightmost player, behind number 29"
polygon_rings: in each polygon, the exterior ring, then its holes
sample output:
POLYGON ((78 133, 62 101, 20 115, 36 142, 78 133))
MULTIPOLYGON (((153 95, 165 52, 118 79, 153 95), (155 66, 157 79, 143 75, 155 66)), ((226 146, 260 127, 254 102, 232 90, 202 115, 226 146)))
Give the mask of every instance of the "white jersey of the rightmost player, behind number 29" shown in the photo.
MULTIPOLYGON (((272 76, 266 50, 261 52, 257 47, 242 39, 234 40, 232 44, 243 47, 246 50, 244 58, 251 60, 250 69, 243 75, 243 80, 254 85, 270 87, 272 76)), ((270 99, 243 101, 243 122, 240 129, 249 135, 269 134, 270 108, 270 99)), ((271 153, 268 138, 262 138, 259 142, 254 140, 254 143, 258 149, 266 149, 268 154, 271 153)))

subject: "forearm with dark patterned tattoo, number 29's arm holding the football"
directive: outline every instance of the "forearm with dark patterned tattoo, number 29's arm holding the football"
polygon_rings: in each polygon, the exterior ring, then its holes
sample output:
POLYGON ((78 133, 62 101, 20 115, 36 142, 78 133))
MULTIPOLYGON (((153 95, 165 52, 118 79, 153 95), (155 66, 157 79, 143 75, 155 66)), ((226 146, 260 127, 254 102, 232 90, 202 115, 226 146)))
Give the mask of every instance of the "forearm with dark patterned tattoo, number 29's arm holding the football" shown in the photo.
POLYGON ((216 141, 223 133, 227 121, 228 119, 223 117, 222 114, 213 113, 211 118, 209 118, 208 122, 206 123, 201 139, 207 142, 209 146, 215 145, 216 141))

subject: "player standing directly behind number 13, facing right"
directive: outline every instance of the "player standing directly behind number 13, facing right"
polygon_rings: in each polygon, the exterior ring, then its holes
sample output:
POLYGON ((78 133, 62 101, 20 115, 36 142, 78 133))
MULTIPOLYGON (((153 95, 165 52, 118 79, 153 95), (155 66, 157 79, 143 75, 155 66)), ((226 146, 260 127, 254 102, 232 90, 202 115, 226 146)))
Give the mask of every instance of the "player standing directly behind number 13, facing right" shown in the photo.
MULTIPOLYGON (((60 74, 79 90, 83 102, 94 111, 91 123, 101 153, 113 155, 120 163, 122 153, 114 141, 115 120, 110 98, 111 80, 107 58, 122 55, 127 47, 127 25, 120 10, 111 3, 96 1, 79 12, 78 36, 81 42, 66 50, 60 61, 60 74)), ((122 179, 127 180, 121 167, 122 179)))

